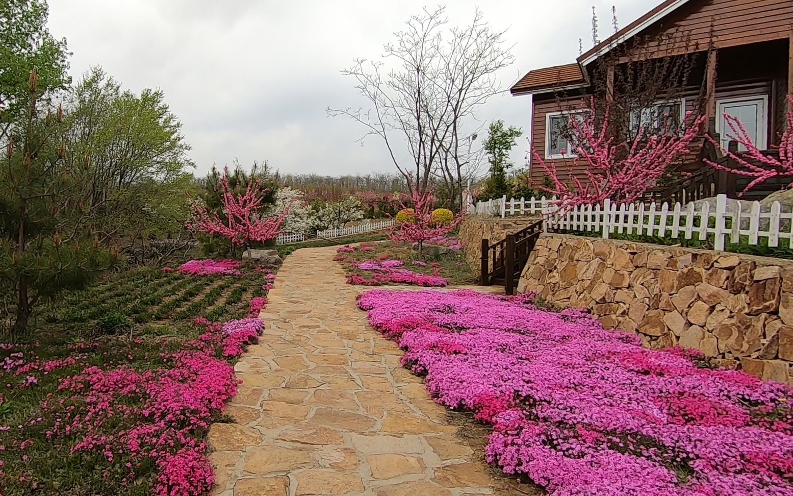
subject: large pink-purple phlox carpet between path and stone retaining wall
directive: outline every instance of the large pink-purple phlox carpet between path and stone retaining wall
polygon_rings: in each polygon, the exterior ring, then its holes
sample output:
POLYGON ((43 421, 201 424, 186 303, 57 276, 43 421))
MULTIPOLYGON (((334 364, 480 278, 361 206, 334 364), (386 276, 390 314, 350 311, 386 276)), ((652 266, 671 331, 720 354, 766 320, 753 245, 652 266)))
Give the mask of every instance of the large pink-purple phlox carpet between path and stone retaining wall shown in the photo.
POLYGON ((492 425, 490 463, 550 496, 793 494, 789 386, 528 300, 373 290, 358 306, 436 402, 492 425))

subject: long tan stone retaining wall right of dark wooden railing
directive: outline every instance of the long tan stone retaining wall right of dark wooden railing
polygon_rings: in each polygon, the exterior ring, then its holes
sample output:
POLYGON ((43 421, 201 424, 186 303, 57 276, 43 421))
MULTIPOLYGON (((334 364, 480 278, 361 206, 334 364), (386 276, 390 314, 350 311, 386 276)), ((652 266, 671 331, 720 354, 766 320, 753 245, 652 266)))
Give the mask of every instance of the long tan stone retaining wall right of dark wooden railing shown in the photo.
POLYGON ((698 348, 722 366, 793 385, 793 262, 543 234, 520 292, 588 307, 648 348, 698 348))

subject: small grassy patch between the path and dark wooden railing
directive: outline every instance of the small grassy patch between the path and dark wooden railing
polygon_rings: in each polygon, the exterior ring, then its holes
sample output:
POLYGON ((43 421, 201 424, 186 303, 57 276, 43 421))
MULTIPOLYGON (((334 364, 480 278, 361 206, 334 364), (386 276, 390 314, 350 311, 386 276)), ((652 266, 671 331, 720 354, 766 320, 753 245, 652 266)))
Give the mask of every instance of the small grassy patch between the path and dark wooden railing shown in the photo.
MULTIPOLYGON (((341 252, 337 257, 347 270, 347 275, 357 276, 367 281, 376 277, 377 271, 362 270, 358 266, 369 261, 399 260, 400 270, 416 272, 420 275, 446 279, 449 285, 476 284, 478 275, 465 262, 462 251, 450 251, 437 247, 425 247, 422 256, 408 244, 382 241, 366 243, 354 252, 341 252), (363 249, 361 249, 363 248, 363 249)), ((399 283, 397 283, 399 284, 399 283)))

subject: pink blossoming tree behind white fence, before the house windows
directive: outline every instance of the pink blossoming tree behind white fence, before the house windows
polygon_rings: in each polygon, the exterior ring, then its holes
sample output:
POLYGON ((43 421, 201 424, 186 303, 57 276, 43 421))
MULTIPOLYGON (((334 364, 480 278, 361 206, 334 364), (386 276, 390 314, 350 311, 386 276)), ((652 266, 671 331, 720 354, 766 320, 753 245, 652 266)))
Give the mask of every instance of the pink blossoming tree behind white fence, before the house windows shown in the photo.
POLYGON ((610 130, 609 111, 598 121, 594 99, 589 109, 569 120, 571 149, 563 152, 570 160, 584 164, 584 178, 573 176, 572 184, 560 179, 557 163, 546 163, 532 149, 534 163, 546 172, 553 186, 537 187, 557 197, 562 208, 597 204, 610 198, 618 202, 635 202, 653 188, 677 158, 685 153, 699 135, 705 117, 694 119, 687 114, 682 129, 661 129, 650 133, 646 126, 638 129, 633 143, 618 140, 610 130))

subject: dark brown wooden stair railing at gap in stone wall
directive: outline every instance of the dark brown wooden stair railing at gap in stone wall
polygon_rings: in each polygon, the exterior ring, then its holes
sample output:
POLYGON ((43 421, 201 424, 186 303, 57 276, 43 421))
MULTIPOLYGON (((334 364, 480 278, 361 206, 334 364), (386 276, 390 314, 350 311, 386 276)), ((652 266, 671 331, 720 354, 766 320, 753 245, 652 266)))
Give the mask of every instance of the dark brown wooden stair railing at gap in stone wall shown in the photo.
POLYGON ((480 275, 482 286, 504 284, 505 294, 514 294, 520 273, 541 233, 542 221, 536 221, 526 229, 508 234, 506 239, 496 244, 490 244, 490 240, 487 239, 482 240, 480 275))

